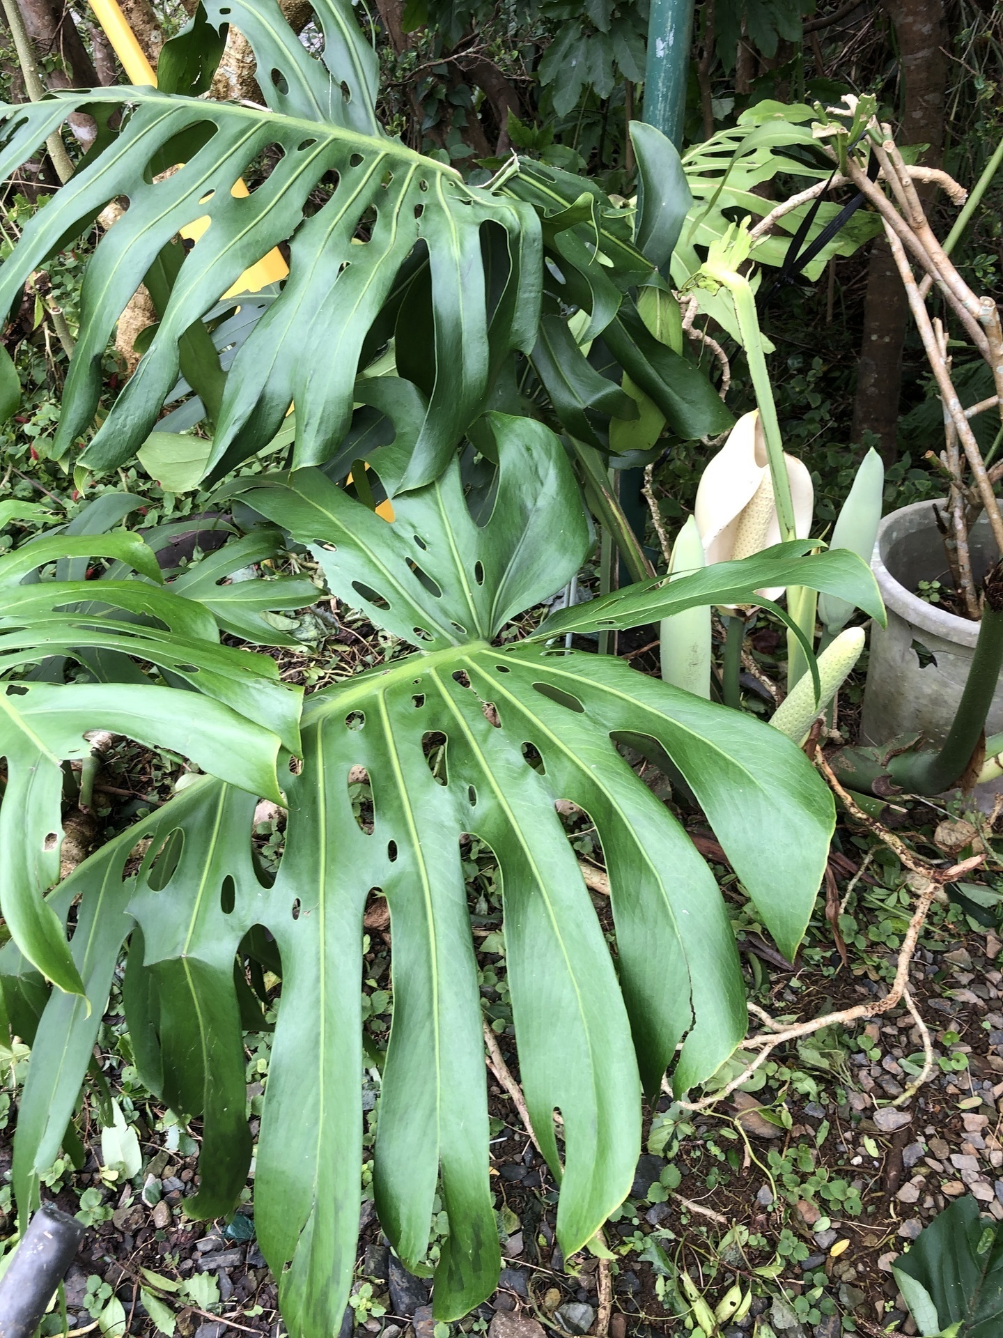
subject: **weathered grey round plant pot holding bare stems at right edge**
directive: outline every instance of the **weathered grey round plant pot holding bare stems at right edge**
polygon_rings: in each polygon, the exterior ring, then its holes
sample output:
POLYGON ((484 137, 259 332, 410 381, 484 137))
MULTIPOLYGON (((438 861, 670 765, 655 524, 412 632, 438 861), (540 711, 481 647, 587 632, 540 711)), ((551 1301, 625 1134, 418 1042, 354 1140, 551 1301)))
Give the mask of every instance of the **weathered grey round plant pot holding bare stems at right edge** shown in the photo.
MULTIPOLYGON (((940 743, 951 728, 968 674, 979 624, 927 603, 912 591, 920 581, 951 577, 933 519, 943 502, 916 502, 881 520, 872 567, 888 610, 888 629, 872 628, 861 736, 883 744, 896 735, 921 733, 940 743)), ((971 539, 972 569, 980 581, 996 561, 986 516, 971 539)), ((1003 681, 1003 680, 1002 680, 1003 681)), ((1003 686, 996 686, 986 733, 1003 732, 1003 686)), ((1003 781, 992 783, 992 789, 1003 781)), ((979 787, 984 789, 986 787, 979 787)), ((984 796, 980 796, 980 799, 984 796)))

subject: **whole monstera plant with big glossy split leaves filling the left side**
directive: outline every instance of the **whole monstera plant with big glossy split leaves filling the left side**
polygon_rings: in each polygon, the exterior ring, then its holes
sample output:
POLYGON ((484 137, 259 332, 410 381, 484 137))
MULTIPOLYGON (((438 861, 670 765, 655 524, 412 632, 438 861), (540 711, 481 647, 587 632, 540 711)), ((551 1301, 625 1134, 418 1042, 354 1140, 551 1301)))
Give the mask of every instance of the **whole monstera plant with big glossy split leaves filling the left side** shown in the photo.
MULTIPOLYGON (((540 622, 542 603, 594 547, 571 462, 587 463, 595 499, 608 423, 638 412, 622 377, 677 436, 732 420, 642 314, 639 286, 666 294, 655 266, 690 206, 678 155, 638 134, 646 189, 635 214, 586 181, 528 165, 467 185, 377 124, 374 56, 352 7, 317 0, 314 13, 322 59, 275 0, 206 0, 185 36, 237 24, 266 108, 199 98, 205 63, 166 51, 159 91, 8 107, 0 147, 8 174, 71 112, 96 126, 75 175, 0 269, 0 306, 110 201, 128 206, 86 270, 55 452, 68 456, 91 432, 100 359, 140 282, 159 324, 74 464, 100 472, 130 459, 179 373, 211 432, 201 466, 210 480, 277 439, 293 443, 288 472, 230 476, 218 494, 235 499, 249 533, 183 571, 169 567, 166 583, 154 550, 163 555, 169 535, 156 533, 144 543, 67 531, 0 559, 0 903, 13 937, 0 974, 8 1020, 32 1045, 17 1202, 32 1210, 72 1139, 124 947, 136 1069, 171 1109, 203 1121, 186 1212, 230 1212, 254 1153, 257 1235, 294 1338, 337 1331, 354 1263, 370 895, 386 899, 393 945, 376 1206, 401 1259, 421 1268, 441 1196, 444 1319, 488 1295, 499 1271, 461 839, 476 835, 500 870, 520 1080, 560 1181, 566 1255, 630 1188, 642 1088, 657 1090, 670 1064, 678 1090, 706 1078, 746 1022, 713 874, 625 751, 650 756, 702 807, 781 950, 794 951, 808 922, 833 807, 805 756, 780 732, 571 649, 566 636, 698 605, 764 605, 756 591, 773 586, 881 617, 857 557, 809 555, 817 541, 794 541, 540 622), (201 235, 186 249, 181 231, 201 235), (221 360, 222 326, 202 317, 286 241, 288 280, 253 304, 221 360), (342 486, 349 470, 357 495, 342 486), (392 523, 368 504, 366 474, 392 499, 392 523), (262 613, 313 602, 316 586, 301 578, 221 583, 285 546, 309 550, 333 595, 413 649, 304 704, 270 656, 225 644, 223 633, 280 642, 262 613), (91 731, 170 748, 206 775, 60 883, 64 764, 86 759, 91 731), (361 773, 373 800, 364 826, 349 793, 361 773), (251 848, 262 797, 288 811, 274 876, 251 848), (602 843, 615 961, 559 800, 583 809, 602 843), (242 1037, 265 1025, 253 991, 257 982, 266 993, 265 970, 282 985, 253 1149, 242 1037)), ((116 519, 130 508, 126 499, 116 519)), ((643 574, 643 558, 633 570, 643 574)))

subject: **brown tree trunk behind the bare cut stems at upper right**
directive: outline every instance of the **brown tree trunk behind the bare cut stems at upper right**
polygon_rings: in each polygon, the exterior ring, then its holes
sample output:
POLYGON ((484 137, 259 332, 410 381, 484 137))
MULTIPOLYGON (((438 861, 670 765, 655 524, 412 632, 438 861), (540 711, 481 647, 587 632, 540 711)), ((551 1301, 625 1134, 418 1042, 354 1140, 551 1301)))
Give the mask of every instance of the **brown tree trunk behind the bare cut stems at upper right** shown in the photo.
MULTIPOLYGON (((929 145, 921 162, 937 166, 944 142, 944 88, 948 60, 941 0, 881 0, 895 24, 904 82, 901 139, 929 145)), ((924 206, 933 187, 919 186, 924 206)), ((899 272, 884 237, 875 241, 864 300, 864 336, 857 364, 853 401, 853 440, 865 431, 879 439, 885 464, 896 456, 901 352, 905 341, 908 302, 899 272)))

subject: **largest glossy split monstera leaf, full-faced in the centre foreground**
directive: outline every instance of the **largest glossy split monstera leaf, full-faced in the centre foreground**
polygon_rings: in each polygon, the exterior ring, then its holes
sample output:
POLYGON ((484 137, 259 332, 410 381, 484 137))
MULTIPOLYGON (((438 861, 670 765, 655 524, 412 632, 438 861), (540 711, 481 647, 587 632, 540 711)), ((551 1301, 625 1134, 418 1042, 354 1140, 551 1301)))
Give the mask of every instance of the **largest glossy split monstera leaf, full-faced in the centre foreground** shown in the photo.
MULTIPOLYGON (((564 628, 633 625, 788 582, 837 589, 881 615, 856 555, 802 557, 804 545, 793 543, 726 563, 717 581, 711 567, 623 591, 622 617, 615 602, 595 601, 592 614, 576 606, 523 641, 495 644, 507 622, 578 571, 591 537, 558 439, 527 419, 489 415, 488 424, 500 464, 483 523, 468 510, 456 462, 396 498, 393 524, 320 471, 246 480, 243 502, 309 546, 338 598, 417 646, 306 700, 302 764, 282 768, 288 826, 274 880, 250 846, 263 787, 247 775, 238 789, 227 773, 198 780, 104 846, 45 904, 66 923, 79 898, 67 950, 87 997, 67 981, 39 1022, 40 1058, 17 1131, 19 1202, 36 1195, 72 1117, 131 934, 123 997, 138 1069, 173 1109, 205 1121, 189 1211, 233 1207, 251 1151, 242 1028, 254 1025, 254 1009, 245 967, 265 963, 284 983, 255 1152, 255 1223, 294 1338, 336 1331, 352 1280, 362 914, 374 890, 389 904, 393 941, 376 1204, 401 1259, 423 1268, 441 1195, 449 1234, 435 1310, 443 1319, 488 1295, 499 1270, 464 834, 489 846, 500 870, 520 1077, 560 1181, 566 1255, 630 1188, 642 1086, 658 1088, 679 1041, 675 1088, 710 1076, 746 1025, 713 874, 619 745, 655 757, 701 804, 782 951, 793 954, 814 904, 833 804, 806 757, 753 719, 554 638, 564 628), (370 831, 353 818, 357 768, 372 788, 370 831), (562 799, 588 814, 602 843, 615 969, 555 811, 562 799), (148 846, 134 872, 140 840, 148 846)), ((17 942, 32 957, 31 942, 20 934, 17 942)), ((23 982, 27 965, 8 971, 23 982)))

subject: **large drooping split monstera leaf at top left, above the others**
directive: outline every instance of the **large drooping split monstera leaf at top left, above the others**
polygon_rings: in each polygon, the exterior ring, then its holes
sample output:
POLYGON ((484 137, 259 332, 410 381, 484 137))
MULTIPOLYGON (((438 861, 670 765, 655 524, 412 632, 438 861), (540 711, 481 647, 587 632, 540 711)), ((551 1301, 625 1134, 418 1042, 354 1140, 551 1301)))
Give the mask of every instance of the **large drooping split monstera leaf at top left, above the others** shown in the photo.
MULTIPOLYGON (((60 92, 4 110, 4 177, 76 110, 90 111, 100 134, 0 269, 0 309, 110 199, 128 198, 87 266, 55 450, 90 425, 115 322, 156 266, 177 277, 148 351, 82 456, 96 470, 122 464, 154 428, 177 383, 186 332, 201 329, 201 317, 245 269, 290 241, 289 278, 226 376, 209 468, 223 472, 266 446, 293 401, 294 463, 326 460, 350 421, 366 334, 382 310, 385 341, 401 309, 401 343, 416 339, 417 356, 431 367, 428 413, 401 486, 425 483, 476 416, 497 360, 535 341, 536 217, 518 201, 464 185, 455 169, 380 130, 376 56, 348 0, 314 5, 322 62, 306 52, 277 0, 207 0, 206 11, 211 23, 233 21, 246 33, 267 110, 140 87, 60 92), (116 131, 108 128, 112 112, 122 114, 116 131), (278 158, 274 169, 241 194, 242 174, 265 151, 278 158), (306 217, 310 193, 332 179, 330 198, 306 217), (199 219, 209 226, 178 264, 171 242, 199 219), (415 309, 431 310, 432 329, 416 328, 415 309)), ((207 352, 211 360, 211 344, 207 352)))

